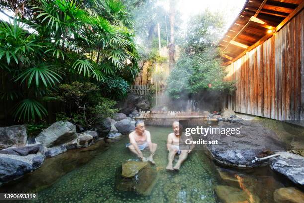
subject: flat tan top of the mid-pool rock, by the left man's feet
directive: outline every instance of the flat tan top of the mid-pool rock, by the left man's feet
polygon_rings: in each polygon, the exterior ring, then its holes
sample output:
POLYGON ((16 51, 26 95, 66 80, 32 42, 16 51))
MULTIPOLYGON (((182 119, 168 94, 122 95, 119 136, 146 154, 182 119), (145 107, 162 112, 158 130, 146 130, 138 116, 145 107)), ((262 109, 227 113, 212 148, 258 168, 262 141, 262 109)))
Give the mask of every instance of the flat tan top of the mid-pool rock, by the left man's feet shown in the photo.
POLYGON ((140 170, 142 170, 144 167, 148 165, 147 162, 141 162, 141 161, 126 161, 122 165, 122 173, 121 176, 124 178, 132 178, 140 170))

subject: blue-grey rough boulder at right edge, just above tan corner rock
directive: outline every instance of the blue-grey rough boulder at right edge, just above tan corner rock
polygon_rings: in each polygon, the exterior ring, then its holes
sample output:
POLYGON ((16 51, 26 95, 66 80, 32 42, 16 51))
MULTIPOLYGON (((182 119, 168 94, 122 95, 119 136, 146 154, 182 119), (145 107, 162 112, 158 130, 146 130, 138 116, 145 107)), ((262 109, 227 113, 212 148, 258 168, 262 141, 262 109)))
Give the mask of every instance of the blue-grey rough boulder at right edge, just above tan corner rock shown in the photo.
POLYGON ((271 162, 271 169, 285 175, 292 182, 304 186, 304 157, 289 152, 280 152, 271 162))

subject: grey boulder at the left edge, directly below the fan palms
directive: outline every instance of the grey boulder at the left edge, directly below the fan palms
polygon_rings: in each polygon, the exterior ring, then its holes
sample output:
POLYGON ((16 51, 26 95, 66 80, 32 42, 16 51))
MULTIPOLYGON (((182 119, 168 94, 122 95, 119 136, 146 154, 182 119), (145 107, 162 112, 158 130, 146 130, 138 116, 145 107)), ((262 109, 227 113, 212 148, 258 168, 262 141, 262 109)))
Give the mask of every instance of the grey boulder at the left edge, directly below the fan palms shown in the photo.
POLYGON ((0 127, 0 149, 11 146, 24 146, 27 140, 27 129, 24 125, 0 127))

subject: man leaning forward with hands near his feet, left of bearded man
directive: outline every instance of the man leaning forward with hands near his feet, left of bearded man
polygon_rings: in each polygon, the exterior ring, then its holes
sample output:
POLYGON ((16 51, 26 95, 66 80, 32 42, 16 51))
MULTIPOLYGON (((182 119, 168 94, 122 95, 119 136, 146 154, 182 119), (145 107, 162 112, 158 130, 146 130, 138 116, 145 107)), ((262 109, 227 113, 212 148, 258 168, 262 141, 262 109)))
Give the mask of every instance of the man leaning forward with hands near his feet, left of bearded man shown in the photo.
POLYGON ((135 131, 129 134, 130 143, 126 145, 131 152, 136 154, 142 161, 149 161, 155 164, 153 160, 157 144, 151 142, 150 132, 146 130, 145 123, 142 120, 135 122, 135 131), (150 156, 145 158, 141 150, 149 148, 150 156))

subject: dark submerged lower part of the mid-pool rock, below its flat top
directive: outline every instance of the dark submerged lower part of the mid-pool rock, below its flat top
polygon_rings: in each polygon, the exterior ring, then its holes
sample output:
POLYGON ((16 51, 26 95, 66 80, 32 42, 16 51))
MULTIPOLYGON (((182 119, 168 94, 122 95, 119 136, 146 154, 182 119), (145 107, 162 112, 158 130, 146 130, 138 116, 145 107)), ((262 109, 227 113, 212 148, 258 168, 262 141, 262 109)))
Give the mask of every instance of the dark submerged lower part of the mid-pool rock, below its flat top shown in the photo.
POLYGON ((122 167, 116 170, 116 189, 119 191, 133 191, 148 196, 157 183, 157 171, 150 166, 144 167, 132 178, 122 177, 122 167))

